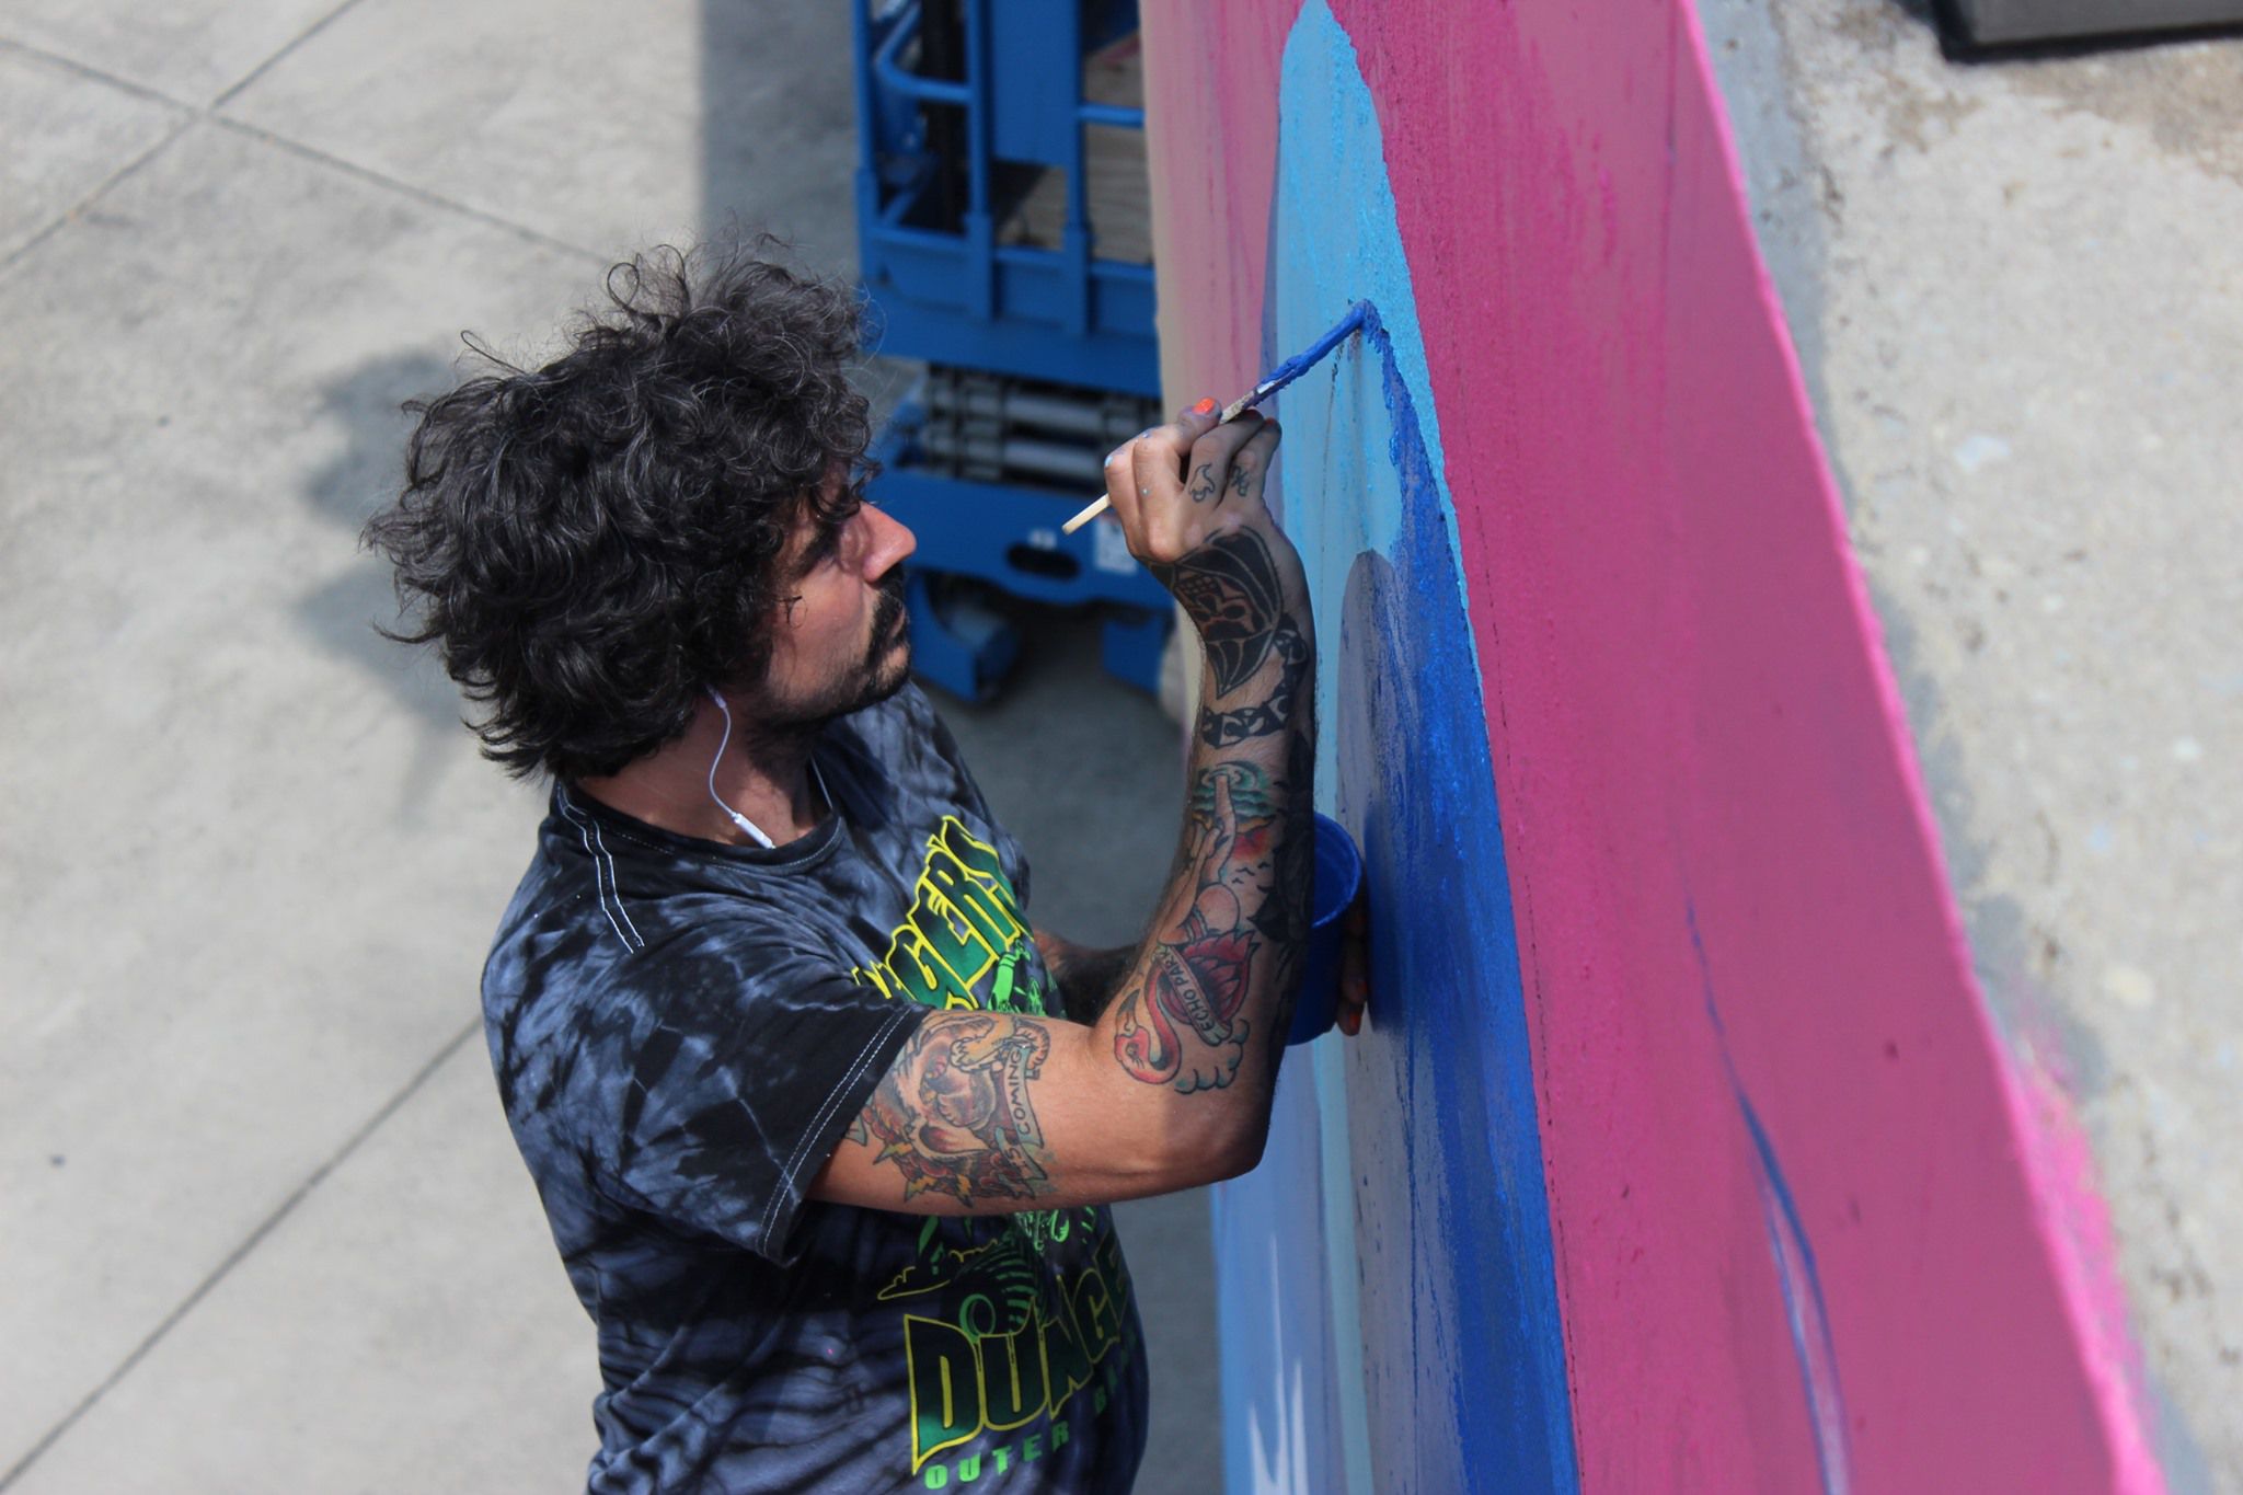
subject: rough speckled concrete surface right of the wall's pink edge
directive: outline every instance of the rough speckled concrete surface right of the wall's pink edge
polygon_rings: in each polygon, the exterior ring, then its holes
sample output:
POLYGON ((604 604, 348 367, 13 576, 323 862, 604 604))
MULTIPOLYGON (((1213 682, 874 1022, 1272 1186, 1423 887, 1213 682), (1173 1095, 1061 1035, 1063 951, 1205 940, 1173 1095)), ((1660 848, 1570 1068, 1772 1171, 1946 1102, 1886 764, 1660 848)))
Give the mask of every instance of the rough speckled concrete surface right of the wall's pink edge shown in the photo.
POLYGON ((2243 38, 1698 11, 1978 977, 2088 1127, 2173 1488, 2243 1491, 2243 38))

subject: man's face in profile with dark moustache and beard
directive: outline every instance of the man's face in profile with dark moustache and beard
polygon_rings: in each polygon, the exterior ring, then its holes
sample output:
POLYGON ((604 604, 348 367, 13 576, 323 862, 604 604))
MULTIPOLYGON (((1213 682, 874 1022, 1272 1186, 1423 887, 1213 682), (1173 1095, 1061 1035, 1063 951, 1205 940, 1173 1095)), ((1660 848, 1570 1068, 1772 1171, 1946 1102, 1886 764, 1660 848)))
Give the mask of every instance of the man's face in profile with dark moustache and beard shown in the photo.
POLYGON ((816 726, 904 688, 911 628, 902 560, 915 547, 911 531, 873 504, 857 504, 839 522, 796 522, 778 560, 792 581, 756 693, 763 726, 816 726))

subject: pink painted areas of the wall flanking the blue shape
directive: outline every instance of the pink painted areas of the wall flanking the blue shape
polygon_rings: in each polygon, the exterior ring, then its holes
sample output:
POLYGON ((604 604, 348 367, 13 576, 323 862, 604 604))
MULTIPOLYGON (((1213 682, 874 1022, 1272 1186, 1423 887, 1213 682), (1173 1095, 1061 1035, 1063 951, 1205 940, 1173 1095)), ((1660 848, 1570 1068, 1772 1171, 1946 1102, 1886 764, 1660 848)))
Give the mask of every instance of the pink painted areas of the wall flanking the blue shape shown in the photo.
MULTIPOLYGON (((1227 397, 1292 352, 1301 0, 1144 16, 1164 374, 1227 397)), ((1689 4, 1332 16, 1456 504, 1581 1488, 2160 1491, 2090 1168, 1974 988, 1689 4)))

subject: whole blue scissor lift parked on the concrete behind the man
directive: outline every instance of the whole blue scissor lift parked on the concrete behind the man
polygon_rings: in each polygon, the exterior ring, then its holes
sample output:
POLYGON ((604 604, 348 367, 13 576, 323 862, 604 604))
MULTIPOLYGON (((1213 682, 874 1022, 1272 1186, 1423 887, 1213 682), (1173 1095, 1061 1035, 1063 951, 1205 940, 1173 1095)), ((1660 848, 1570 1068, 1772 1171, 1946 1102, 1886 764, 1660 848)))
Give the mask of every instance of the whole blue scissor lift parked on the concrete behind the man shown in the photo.
POLYGON ((1106 610, 1106 668, 1157 690, 1169 594, 1113 524, 1059 524, 1155 424, 1135 0, 855 0, 857 242, 879 350, 926 377, 873 495, 911 524, 922 675, 987 699, 994 594, 1106 610))

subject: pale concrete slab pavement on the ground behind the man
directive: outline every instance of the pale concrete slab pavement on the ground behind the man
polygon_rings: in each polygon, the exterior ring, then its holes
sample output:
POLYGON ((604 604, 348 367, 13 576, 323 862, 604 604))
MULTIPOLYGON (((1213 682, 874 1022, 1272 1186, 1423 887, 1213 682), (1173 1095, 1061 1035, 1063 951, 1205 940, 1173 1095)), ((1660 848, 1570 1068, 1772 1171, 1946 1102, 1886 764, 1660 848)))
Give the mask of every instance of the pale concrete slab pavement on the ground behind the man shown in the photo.
MULTIPOLYGON (((0 0, 0 1491, 576 1488, 588 1322, 476 1020, 541 800, 354 551, 458 332, 738 213, 852 267, 848 13, 0 0)), ((947 704, 1039 921, 1135 935, 1175 731, 1045 616, 947 704)), ((1130 1206, 1144 1491, 1218 1468, 1202 1197, 1130 1206)))

